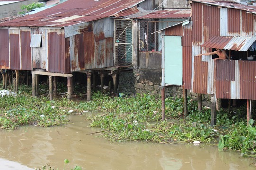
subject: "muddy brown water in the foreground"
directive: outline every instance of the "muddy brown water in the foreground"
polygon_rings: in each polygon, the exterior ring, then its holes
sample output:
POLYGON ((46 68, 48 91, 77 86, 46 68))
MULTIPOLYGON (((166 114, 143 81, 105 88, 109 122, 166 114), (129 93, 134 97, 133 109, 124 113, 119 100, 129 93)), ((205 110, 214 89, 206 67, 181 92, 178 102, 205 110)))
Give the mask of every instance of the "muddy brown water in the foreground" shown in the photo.
MULTIPOLYGON (((88 113, 90 114, 90 113, 88 113)), ((88 127, 85 115, 57 127, 23 126, 0 131, 0 170, 33 170, 50 164, 63 170, 256 170, 253 158, 217 146, 113 142, 88 127)))

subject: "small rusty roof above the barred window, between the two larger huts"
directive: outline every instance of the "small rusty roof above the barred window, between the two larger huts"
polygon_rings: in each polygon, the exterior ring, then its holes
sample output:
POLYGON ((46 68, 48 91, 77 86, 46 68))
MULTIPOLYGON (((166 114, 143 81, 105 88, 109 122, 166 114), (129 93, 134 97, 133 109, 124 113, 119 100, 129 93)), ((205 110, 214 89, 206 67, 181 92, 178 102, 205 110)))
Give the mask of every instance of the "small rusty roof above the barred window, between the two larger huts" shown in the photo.
POLYGON ((147 11, 138 7, 138 12, 125 16, 130 19, 165 19, 165 18, 188 18, 190 17, 190 9, 169 9, 169 10, 152 10, 147 11))

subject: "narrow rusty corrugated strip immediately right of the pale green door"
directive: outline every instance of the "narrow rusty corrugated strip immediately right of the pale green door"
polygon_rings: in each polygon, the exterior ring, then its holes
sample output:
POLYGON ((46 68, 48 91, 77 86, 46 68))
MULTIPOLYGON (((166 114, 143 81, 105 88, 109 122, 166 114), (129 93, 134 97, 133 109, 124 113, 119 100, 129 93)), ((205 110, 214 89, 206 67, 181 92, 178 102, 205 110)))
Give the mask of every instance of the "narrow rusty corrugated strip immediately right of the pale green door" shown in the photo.
POLYGON ((182 48, 182 78, 185 89, 191 89, 191 77, 192 77, 192 58, 191 47, 183 46, 182 48))

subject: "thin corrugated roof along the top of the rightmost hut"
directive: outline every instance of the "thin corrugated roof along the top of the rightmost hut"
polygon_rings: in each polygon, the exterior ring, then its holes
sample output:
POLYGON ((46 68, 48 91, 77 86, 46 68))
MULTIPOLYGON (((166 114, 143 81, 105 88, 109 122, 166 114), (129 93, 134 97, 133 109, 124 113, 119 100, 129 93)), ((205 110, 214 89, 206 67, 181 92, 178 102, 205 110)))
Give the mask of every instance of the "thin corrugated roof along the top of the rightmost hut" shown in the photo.
POLYGON ((226 8, 246 10, 248 12, 256 13, 256 5, 248 5, 246 2, 218 1, 218 0, 190 0, 190 1, 205 3, 209 5, 216 5, 220 7, 226 7, 226 8))

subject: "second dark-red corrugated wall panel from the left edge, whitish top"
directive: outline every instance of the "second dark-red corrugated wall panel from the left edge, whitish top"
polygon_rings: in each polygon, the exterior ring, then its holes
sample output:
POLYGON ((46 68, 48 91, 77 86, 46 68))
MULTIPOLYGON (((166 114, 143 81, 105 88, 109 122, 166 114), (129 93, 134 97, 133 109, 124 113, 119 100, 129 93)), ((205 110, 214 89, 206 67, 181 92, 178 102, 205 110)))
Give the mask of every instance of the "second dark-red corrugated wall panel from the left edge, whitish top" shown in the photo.
POLYGON ((9 29, 10 69, 20 70, 19 29, 9 29))

